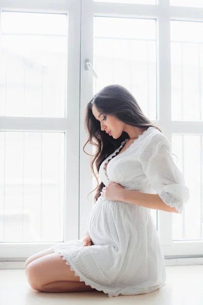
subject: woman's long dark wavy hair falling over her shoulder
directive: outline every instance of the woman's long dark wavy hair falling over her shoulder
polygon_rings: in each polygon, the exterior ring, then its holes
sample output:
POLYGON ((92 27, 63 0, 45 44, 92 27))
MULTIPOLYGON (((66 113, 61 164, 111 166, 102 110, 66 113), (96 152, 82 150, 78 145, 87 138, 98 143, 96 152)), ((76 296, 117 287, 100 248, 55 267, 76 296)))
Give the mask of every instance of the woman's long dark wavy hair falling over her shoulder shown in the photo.
POLYGON ((143 129, 155 127, 160 132, 161 130, 143 113, 136 99, 125 87, 118 84, 108 85, 93 96, 87 104, 85 112, 85 129, 88 133, 88 140, 83 146, 83 151, 92 157, 90 162, 91 171, 97 181, 97 186, 92 192, 96 190, 94 196, 94 201, 96 202, 105 186, 103 182, 99 184, 98 181, 99 167, 108 156, 120 147, 125 139, 129 139, 129 136, 126 132, 122 132, 118 139, 114 139, 106 132, 101 131, 100 122, 92 113, 93 104, 99 112, 114 115, 125 124, 143 129), (96 147, 94 155, 90 155, 84 150, 87 143, 96 147), (95 172, 94 166, 97 172, 95 172))

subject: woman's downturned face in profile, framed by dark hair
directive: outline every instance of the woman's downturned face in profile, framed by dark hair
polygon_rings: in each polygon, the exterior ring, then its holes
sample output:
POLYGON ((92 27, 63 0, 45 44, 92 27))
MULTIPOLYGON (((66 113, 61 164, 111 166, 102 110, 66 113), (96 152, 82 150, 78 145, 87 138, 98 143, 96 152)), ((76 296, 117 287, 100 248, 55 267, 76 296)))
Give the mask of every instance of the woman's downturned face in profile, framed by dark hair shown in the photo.
POLYGON ((114 139, 118 139, 121 136, 125 127, 125 123, 123 123, 120 119, 112 114, 100 114, 94 104, 92 105, 92 113, 94 117, 100 121, 102 131, 107 133, 110 132, 109 135, 114 139))

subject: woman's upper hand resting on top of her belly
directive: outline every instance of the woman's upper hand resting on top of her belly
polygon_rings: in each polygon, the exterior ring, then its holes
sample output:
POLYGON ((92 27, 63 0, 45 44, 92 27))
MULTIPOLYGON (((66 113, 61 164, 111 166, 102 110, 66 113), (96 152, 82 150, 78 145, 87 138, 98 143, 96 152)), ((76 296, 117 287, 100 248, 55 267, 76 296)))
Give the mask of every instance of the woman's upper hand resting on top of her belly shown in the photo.
POLYGON ((111 201, 120 201, 124 188, 116 182, 109 182, 109 185, 102 189, 101 196, 111 201))

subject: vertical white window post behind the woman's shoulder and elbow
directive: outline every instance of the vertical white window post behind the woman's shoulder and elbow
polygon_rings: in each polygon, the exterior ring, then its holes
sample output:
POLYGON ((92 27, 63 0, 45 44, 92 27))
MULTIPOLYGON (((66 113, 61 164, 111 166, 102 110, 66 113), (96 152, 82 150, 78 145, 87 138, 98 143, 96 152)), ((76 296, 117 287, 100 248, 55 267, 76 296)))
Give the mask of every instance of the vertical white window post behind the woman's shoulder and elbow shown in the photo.
MULTIPOLYGON (((159 0, 159 16, 157 19, 157 111, 159 126, 171 142, 171 38, 169 7, 170 0, 159 0)), ((172 214, 158 210, 157 217, 161 245, 171 246, 173 242, 172 214)))

